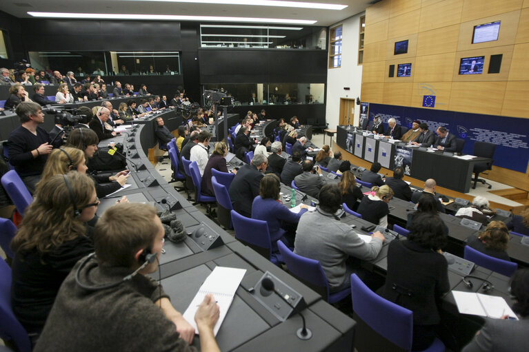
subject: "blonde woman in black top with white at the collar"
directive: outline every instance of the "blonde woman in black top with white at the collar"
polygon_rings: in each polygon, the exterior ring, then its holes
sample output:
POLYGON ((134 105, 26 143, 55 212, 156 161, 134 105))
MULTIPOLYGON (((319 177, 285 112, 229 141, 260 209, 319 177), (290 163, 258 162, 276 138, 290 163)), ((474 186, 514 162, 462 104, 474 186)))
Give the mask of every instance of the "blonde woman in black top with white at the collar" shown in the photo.
POLYGON ((388 185, 373 186, 372 191, 375 191, 375 195, 369 194, 363 197, 357 213, 362 216, 363 220, 368 220, 381 227, 388 227, 388 214, 390 214, 388 203, 393 198, 393 191, 388 185))

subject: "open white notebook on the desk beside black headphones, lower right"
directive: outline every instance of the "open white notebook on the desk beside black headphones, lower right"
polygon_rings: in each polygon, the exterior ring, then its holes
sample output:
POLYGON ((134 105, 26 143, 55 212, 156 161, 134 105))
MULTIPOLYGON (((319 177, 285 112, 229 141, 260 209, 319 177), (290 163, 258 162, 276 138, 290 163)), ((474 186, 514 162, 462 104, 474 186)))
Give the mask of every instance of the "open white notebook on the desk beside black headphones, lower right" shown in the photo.
POLYGON ((518 320, 503 297, 483 295, 481 293, 452 291, 459 313, 480 315, 488 318, 501 318, 509 315, 518 320))

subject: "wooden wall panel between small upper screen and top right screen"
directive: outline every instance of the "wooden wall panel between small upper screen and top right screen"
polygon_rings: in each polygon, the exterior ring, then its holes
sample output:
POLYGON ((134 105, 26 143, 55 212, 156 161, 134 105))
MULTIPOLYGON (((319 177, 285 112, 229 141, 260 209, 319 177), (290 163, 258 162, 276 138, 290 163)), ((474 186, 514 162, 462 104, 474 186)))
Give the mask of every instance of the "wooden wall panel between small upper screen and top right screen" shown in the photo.
POLYGON ((455 52, 459 41, 459 25, 420 32, 417 38, 417 56, 455 52))

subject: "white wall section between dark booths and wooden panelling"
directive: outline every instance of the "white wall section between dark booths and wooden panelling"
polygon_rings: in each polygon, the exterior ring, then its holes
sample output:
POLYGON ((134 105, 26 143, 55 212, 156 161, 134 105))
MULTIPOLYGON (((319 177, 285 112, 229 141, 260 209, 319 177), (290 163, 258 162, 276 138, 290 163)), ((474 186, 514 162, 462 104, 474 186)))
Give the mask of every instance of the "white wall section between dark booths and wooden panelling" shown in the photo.
MULTIPOLYGON (((360 17, 357 14, 341 22, 331 25, 343 25, 341 68, 330 68, 327 72, 327 107, 326 119, 329 128, 335 128, 339 122, 340 98, 354 98, 360 96, 362 85, 362 65, 358 65, 358 40, 360 17), (343 90, 350 87, 350 90, 343 90)), ((359 105, 355 106, 355 124, 358 123, 359 105)))

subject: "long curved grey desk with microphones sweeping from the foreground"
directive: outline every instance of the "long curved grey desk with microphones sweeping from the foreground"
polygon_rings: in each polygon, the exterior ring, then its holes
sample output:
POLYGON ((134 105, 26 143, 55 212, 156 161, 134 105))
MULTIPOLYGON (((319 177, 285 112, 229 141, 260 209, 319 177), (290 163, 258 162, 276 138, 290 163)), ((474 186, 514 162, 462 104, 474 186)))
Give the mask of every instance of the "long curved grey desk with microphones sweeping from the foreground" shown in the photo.
MULTIPOLYGON (((164 119, 166 117, 165 114, 161 116, 164 119)), ((160 275, 174 307, 178 311, 186 311, 215 266, 246 269, 246 275, 217 334, 221 351, 352 351, 354 320, 323 302, 318 293, 227 234, 156 172, 144 152, 144 149, 152 145, 143 145, 141 142, 145 140, 143 133, 151 133, 149 131, 149 125, 145 123, 114 138, 116 143, 123 142, 124 152, 129 156, 131 176, 128 183, 132 186, 101 200, 98 215, 101 216, 117 199, 126 195, 130 201, 152 203, 159 210, 171 207, 188 233, 204 227, 208 233, 218 234, 222 238, 223 245, 207 251, 203 251, 192 236, 186 237, 181 243, 172 243, 166 239, 163 247, 165 253, 160 260, 160 275), (136 158, 130 157, 135 154, 136 158), (140 165, 139 171, 135 171, 131 161, 140 165), (307 327, 313 333, 310 340, 297 338, 296 331, 301 327, 299 315, 295 314, 286 321, 281 321, 256 299, 259 290, 254 291, 252 288, 266 271, 303 296, 308 307, 301 311, 307 320, 307 327)), ((108 141, 102 141, 100 146, 106 144, 108 141)), ((158 273, 153 273, 152 277, 157 279, 158 273)), ((198 341, 197 336, 194 346, 198 346, 198 341)))

